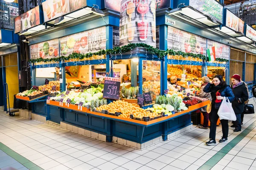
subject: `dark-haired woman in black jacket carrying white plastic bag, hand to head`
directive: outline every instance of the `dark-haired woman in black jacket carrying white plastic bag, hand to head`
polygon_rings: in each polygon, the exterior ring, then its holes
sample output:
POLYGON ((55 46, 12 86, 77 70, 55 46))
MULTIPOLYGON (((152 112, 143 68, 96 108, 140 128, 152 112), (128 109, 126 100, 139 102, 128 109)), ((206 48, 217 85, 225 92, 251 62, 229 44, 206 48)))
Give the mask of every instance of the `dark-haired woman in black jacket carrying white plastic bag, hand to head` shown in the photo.
MULTIPOLYGON (((235 99, 235 96, 232 92, 232 89, 226 82, 223 80, 221 75, 217 75, 213 78, 212 82, 208 83, 204 87, 204 92, 211 93, 212 96, 212 110, 209 113, 210 118, 210 134, 209 134, 209 142, 206 142, 207 145, 215 145, 215 136, 216 136, 216 127, 218 121, 218 110, 221 106, 221 102, 224 97, 227 97, 230 102, 235 99)), ((221 119, 221 127, 222 127, 222 138, 219 142, 224 143, 227 142, 228 136, 228 120, 221 119)))

